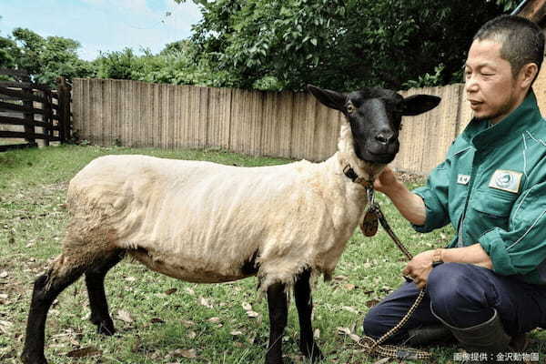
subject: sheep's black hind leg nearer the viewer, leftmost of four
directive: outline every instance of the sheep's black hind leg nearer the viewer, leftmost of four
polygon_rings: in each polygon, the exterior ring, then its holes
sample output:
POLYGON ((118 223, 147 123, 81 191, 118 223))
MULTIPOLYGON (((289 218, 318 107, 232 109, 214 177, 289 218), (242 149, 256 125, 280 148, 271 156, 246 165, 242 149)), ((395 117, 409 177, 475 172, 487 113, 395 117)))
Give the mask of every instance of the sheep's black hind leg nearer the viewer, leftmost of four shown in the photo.
POLYGON ((35 280, 28 319, 25 347, 21 360, 25 364, 47 364, 44 356, 45 319, 55 298, 85 271, 84 267, 67 268, 62 274, 54 270, 35 280))

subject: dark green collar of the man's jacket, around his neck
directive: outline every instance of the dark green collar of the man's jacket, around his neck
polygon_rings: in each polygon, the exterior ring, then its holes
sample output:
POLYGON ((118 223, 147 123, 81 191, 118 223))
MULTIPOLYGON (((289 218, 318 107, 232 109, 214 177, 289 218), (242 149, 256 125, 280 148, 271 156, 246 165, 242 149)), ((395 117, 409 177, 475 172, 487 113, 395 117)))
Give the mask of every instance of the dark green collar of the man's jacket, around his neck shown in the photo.
POLYGON ((533 128, 541 118, 537 98, 531 90, 520 106, 494 126, 488 127, 489 120, 470 120, 463 137, 478 150, 495 147, 506 143, 506 139, 520 135, 523 130, 533 128))

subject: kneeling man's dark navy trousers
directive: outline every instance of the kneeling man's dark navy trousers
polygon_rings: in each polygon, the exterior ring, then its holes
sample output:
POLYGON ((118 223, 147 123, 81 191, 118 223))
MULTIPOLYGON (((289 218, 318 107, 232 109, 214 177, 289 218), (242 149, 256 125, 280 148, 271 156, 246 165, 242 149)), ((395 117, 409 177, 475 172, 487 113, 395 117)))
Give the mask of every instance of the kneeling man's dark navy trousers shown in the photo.
MULTIPOLYGON (((419 295, 405 283, 369 310, 364 333, 378 339, 397 325, 419 295)), ((531 285, 470 264, 444 263, 430 272, 425 298, 408 323, 387 342, 408 339, 408 330, 439 325, 470 328, 490 319, 496 309, 505 331, 513 336, 546 326, 546 286, 531 285), (432 313, 434 312, 434 314, 432 313)))

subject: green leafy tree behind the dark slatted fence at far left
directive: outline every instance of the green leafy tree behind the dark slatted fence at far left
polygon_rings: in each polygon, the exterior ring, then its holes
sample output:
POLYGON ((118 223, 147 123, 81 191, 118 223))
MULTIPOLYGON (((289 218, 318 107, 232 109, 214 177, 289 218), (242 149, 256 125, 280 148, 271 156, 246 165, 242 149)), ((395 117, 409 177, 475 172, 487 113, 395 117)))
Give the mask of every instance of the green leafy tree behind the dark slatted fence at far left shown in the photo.
POLYGON ((88 62, 78 58, 80 44, 61 36, 46 38, 32 30, 15 28, 11 36, 0 37, 0 66, 25 69, 42 84, 56 85, 56 77, 95 76, 88 62))

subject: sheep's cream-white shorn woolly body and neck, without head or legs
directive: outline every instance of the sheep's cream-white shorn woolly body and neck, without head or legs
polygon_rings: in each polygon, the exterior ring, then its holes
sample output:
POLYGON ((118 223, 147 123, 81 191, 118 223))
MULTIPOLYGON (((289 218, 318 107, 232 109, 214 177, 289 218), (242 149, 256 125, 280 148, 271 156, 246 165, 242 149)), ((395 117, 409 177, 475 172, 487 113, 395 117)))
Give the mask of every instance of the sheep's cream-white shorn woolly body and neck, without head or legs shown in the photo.
POLYGON ((69 231, 100 231, 109 248, 191 282, 248 277, 243 266, 254 256, 262 290, 291 286, 305 268, 329 275, 358 225, 366 193, 343 174, 348 163, 362 177, 380 168, 354 155, 347 123, 339 152, 322 163, 230 167, 99 157, 70 182, 69 231))

